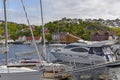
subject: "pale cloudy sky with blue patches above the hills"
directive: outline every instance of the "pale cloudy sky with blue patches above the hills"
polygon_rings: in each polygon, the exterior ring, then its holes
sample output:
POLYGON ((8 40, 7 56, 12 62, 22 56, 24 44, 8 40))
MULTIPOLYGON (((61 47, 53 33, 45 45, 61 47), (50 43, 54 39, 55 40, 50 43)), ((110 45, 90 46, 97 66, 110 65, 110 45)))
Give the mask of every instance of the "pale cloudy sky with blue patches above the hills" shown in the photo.
MULTIPOLYGON (((27 24, 21 0, 6 0, 7 20, 27 24)), ((30 24, 41 25, 39 0, 23 0, 30 24)), ((66 18, 120 18, 120 0, 42 0, 44 23, 66 18)), ((0 19, 4 20, 3 0, 0 19)))

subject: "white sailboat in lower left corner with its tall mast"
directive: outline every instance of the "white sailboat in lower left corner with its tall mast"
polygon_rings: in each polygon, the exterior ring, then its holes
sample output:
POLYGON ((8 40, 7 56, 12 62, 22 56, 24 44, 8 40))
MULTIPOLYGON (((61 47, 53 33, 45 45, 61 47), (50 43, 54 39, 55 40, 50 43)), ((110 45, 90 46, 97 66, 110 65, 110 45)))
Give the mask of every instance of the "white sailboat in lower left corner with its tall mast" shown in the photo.
POLYGON ((8 43, 7 43, 7 17, 6 17, 6 0, 4 0, 4 18, 5 18, 5 60, 6 65, 0 66, 0 80, 40 80, 44 69, 33 70, 26 67, 9 67, 8 64, 8 43))

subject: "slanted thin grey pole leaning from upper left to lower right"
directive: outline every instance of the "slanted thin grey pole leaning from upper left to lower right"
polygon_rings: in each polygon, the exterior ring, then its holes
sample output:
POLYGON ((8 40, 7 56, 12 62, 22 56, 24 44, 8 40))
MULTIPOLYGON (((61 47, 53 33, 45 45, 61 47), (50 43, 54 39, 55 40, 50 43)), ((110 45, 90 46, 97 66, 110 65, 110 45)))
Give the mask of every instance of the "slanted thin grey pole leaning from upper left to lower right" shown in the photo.
POLYGON ((37 47, 36 42, 35 42, 34 34, 33 34, 33 32, 32 32, 32 28, 31 28, 30 21, 29 21, 28 16, 27 16, 27 12, 26 12, 26 8, 25 8, 25 5, 24 5, 23 0, 21 0, 21 3, 22 3, 22 6, 23 6, 23 10, 24 10, 24 13, 25 13, 25 17, 26 17, 26 19, 27 19, 28 26, 29 26, 29 28, 30 28, 30 32, 31 32, 32 38, 33 38, 33 43, 34 43, 34 45, 35 45, 35 48, 36 48, 36 51, 37 51, 39 60, 41 61, 40 53, 39 53, 38 47, 37 47))

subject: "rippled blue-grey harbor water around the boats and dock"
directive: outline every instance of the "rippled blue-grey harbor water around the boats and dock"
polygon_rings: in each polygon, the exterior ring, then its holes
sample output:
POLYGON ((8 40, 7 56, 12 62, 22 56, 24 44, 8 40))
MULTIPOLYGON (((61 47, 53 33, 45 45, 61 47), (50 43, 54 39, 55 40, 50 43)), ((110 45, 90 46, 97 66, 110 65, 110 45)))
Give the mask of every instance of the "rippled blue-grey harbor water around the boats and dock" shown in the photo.
MULTIPOLYGON (((2 47, 2 45, 0 45, 2 47)), ((39 52, 42 53, 42 45, 38 46, 39 52)), ((47 47, 47 60, 49 62, 55 61, 56 58, 50 54, 50 49, 47 47)), ((35 47, 33 45, 25 45, 25 44, 9 44, 9 61, 19 61, 20 59, 38 59, 38 54, 34 55, 26 55, 26 56, 17 56, 16 54, 20 54, 21 52, 34 51, 35 47)), ((4 55, 0 54, 0 64, 4 64, 4 55)), ((120 67, 111 68, 111 67, 102 67, 99 69, 88 70, 88 71, 78 71, 71 72, 73 80, 120 80, 120 67), (74 75, 73 75, 74 74, 74 75)), ((52 79, 45 79, 52 80, 52 79)))

